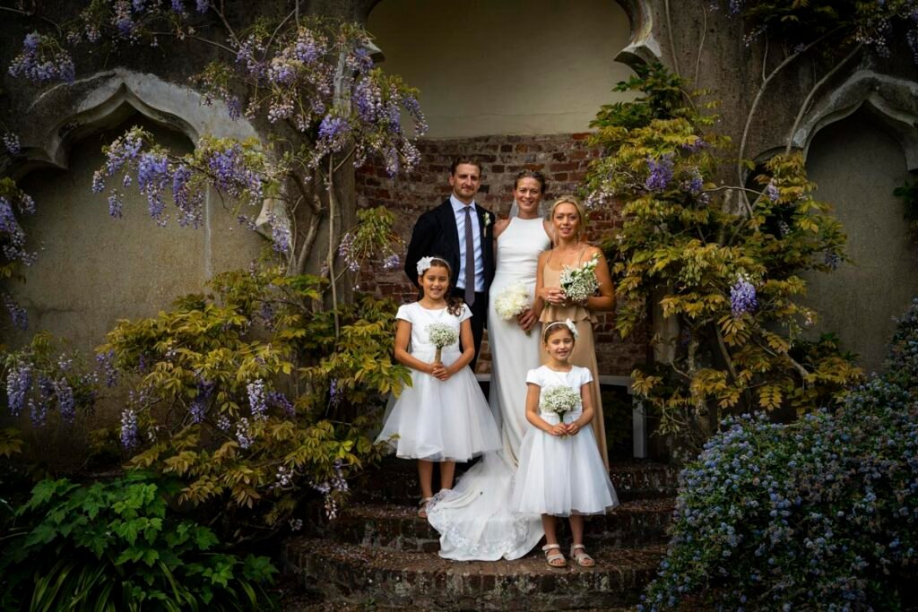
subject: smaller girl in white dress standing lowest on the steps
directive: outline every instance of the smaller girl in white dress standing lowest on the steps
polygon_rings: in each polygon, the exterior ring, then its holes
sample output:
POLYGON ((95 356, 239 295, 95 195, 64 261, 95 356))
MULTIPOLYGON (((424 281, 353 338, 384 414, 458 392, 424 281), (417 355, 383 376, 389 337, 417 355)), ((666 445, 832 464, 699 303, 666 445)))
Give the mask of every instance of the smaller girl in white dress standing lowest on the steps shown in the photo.
POLYGON ((510 506, 516 512, 541 514, 545 528, 546 562, 565 567, 554 531, 554 517, 570 517, 574 543, 571 557, 581 567, 596 565, 583 545, 583 515, 604 514, 618 506, 618 496, 599 457, 588 427, 593 419, 587 368, 567 362, 577 341, 570 319, 543 330, 548 362, 526 376, 526 418, 532 428, 520 447, 520 468, 510 506))

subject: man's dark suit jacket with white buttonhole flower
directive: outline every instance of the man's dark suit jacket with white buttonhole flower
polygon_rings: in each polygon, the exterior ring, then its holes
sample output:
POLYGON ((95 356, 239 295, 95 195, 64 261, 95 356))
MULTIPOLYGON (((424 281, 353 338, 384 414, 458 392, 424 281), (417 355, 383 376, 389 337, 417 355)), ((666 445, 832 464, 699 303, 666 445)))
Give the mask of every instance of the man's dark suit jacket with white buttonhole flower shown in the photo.
MULTIPOLYGON (((485 293, 494 280, 494 214, 476 202, 478 227, 481 228, 481 255, 485 265, 485 293), (487 224, 485 218, 487 217, 487 224)), ((450 284, 455 287, 459 280, 459 230, 449 198, 440 206, 427 211, 418 218, 411 232, 408 255, 405 256, 405 273, 418 286, 418 260, 436 255, 448 261, 452 270, 450 284)))

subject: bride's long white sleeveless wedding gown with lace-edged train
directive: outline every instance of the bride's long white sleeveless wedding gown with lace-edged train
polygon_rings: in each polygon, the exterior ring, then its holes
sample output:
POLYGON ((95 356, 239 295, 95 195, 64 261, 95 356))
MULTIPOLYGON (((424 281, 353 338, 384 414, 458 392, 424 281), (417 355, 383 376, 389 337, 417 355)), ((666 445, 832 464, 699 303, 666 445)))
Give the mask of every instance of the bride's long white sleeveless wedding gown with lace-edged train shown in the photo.
POLYGON ((531 335, 516 320, 506 321, 494 300, 512 284, 522 283, 532 295, 539 254, 550 246, 542 218, 513 217, 498 237, 497 273, 489 291, 487 338, 491 348, 490 405, 501 424, 503 449, 488 452, 452 490, 434 496, 427 518, 440 532, 440 556, 455 561, 519 559, 542 539, 539 515, 510 510, 513 475, 526 430, 526 373, 538 368, 540 326, 531 335))

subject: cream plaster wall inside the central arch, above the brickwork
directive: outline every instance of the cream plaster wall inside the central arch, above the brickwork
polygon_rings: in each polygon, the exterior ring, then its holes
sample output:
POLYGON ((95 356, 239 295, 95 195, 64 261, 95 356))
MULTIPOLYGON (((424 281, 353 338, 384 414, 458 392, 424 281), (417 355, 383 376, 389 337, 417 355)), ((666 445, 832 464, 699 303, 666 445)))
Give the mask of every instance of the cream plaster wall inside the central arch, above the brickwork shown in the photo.
POLYGON ((430 138, 588 129, 633 72, 616 56, 631 24, 614 0, 383 0, 367 20, 386 72, 420 89, 430 138))

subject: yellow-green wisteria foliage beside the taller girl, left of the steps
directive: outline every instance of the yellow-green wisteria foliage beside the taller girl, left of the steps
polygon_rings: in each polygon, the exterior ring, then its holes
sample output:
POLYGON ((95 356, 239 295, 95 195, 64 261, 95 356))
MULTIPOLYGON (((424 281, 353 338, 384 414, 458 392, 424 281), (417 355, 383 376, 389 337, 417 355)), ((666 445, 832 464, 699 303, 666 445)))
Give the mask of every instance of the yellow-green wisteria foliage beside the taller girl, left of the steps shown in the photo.
POLYGON ((179 501, 216 504, 236 538, 283 527, 304 484, 334 515, 345 479, 383 451, 367 437, 373 417, 410 381, 391 361, 396 305, 358 295, 338 308, 336 337, 319 302, 327 284, 280 269, 219 274, 214 294, 120 321, 101 348, 139 390, 138 431, 121 429, 130 463, 182 479, 179 501))

